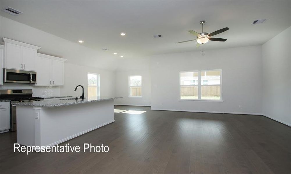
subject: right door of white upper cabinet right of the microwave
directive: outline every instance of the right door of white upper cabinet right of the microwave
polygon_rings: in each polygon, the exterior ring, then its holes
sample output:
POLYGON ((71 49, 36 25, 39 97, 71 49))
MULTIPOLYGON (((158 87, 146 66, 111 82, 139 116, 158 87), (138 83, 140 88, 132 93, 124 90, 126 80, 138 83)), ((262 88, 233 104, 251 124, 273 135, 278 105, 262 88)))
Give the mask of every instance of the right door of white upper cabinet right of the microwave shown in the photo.
POLYGON ((52 83, 55 86, 64 85, 65 62, 52 60, 52 83))

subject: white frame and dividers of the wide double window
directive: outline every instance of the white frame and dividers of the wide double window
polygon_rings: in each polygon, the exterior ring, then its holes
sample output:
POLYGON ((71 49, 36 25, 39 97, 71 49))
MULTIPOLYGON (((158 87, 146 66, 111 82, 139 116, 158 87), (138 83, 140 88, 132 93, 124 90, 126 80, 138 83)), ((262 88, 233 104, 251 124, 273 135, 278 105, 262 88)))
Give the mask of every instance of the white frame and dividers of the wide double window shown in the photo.
POLYGON ((179 100, 180 101, 217 101, 222 102, 222 69, 207 69, 195 71, 179 71, 179 100), (220 85, 201 85, 201 71, 220 71, 220 85), (181 73, 198 72, 198 85, 181 85, 181 73), (181 86, 198 86, 198 99, 181 99, 181 86), (220 86, 220 100, 201 99, 201 86, 220 86))

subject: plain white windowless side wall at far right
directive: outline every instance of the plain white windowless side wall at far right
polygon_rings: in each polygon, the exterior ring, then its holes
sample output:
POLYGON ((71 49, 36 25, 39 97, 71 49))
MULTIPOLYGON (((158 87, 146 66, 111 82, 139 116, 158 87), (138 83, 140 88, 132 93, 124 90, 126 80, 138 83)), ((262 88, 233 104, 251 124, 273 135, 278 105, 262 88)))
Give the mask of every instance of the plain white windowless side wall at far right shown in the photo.
POLYGON ((263 114, 291 126, 291 27, 262 45, 263 114))

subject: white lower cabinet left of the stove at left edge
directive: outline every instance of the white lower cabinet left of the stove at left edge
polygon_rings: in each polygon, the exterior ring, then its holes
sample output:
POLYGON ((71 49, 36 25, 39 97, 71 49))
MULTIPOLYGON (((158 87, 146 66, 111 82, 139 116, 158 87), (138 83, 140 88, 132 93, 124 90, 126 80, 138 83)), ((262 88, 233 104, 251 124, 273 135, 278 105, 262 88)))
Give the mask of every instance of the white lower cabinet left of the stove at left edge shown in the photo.
POLYGON ((0 102, 0 132, 10 129, 10 102, 0 102))

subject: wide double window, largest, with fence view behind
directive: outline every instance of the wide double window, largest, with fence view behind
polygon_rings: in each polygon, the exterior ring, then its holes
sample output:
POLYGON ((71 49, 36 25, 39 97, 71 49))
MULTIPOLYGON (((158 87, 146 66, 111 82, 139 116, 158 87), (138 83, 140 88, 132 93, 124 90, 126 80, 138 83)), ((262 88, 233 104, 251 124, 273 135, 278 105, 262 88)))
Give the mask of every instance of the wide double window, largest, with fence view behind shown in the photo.
POLYGON ((180 100, 222 100, 221 70, 180 71, 180 100))

